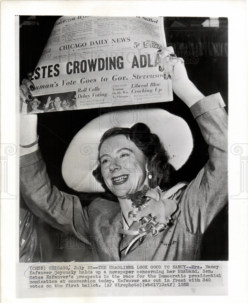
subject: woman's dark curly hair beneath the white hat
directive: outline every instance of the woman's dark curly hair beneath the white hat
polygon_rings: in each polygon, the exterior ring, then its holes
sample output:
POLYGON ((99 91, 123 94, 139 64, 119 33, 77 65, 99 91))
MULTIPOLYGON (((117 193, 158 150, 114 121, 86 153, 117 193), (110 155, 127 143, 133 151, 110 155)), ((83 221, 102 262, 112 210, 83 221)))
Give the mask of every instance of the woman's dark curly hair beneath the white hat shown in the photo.
POLYGON ((151 133, 150 128, 144 123, 136 123, 131 128, 114 127, 107 130, 98 146, 98 162, 99 165, 93 171, 93 176, 98 182, 101 183, 105 191, 108 189, 104 183, 101 174, 101 165, 99 151, 103 142, 110 137, 117 135, 124 135, 130 139, 134 144, 142 151, 147 161, 147 169, 152 175, 151 179, 148 179, 148 186, 155 188, 159 186, 163 190, 168 190, 171 181, 172 172, 175 168, 168 162, 168 154, 161 143, 158 135, 151 133))

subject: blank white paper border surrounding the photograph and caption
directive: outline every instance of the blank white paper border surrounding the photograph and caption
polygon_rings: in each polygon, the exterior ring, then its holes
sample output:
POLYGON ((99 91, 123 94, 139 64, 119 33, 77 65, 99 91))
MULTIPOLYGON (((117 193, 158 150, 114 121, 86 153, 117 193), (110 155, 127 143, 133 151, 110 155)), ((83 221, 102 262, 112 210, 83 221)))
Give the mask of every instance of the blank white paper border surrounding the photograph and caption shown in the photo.
MULTIPOLYGON (((115 16, 211 16, 228 17, 229 21, 229 151, 235 143, 247 143, 247 20, 246 1, 1 1, 1 143, 18 145, 15 113, 19 84, 18 61, 15 54, 14 15, 115 15, 115 16), (15 79, 15 80, 14 80, 15 79)), ((8 161, 8 189, 18 195, 18 158, 8 161)), ((229 196, 239 191, 239 158, 229 153, 229 196), (237 160, 238 159, 238 160, 237 160)), ((248 198, 248 197, 247 197, 248 198)), ((16 203, 1 201, 1 295, 3 302, 67 302, 68 298, 15 298, 16 203)), ((247 218, 248 199, 229 201, 229 279, 228 296, 168 296, 161 297, 108 297, 70 298, 73 302, 209 302, 236 303, 248 301, 247 279, 247 218)), ((18 246, 17 246, 18 247, 18 246)))

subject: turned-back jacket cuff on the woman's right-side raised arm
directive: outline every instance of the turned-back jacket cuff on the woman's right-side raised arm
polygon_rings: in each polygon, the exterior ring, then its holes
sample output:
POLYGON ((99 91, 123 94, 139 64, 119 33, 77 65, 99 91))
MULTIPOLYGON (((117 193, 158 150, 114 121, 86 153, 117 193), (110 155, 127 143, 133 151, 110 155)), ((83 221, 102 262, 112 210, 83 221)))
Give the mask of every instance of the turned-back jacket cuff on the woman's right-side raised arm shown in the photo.
POLYGON ((225 107, 225 103, 220 95, 220 93, 207 96, 190 107, 192 115, 194 118, 205 114, 213 109, 225 107))

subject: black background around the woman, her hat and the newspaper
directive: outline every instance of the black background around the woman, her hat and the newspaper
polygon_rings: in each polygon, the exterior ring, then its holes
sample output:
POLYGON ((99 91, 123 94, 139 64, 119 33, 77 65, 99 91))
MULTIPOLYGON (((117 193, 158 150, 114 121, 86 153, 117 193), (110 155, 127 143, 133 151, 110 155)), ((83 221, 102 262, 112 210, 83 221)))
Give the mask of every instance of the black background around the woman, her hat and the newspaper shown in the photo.
MULTIPOLYGON (((36 16, 33 25, 23 25, 29 16, 20 16, 20 83, 26 78, 27 72, 34 71, 39 57, 49 38, 54 23, 60 16, 36 16)), ((187 42, 189 39, 195 42, 205 43, 211 36, 215 42, 227 43, 227 19, 221 19, 220 28, 202 28, 200 24, 206 18, 190 17, 165 17, 165 35, 167 45, 173 45, 177 53, 178 33, 182 33, 181 39, 187 42), (185 27, 171 28, 174 21, 182 22, 185 27), (192 25, 193 23, 193 25, 192 25), (204 41, 199 41, 204 38, 204 41)), ((179 46, 178 46, 179 47, 179 46)), ((211 47, 211 45, 209 46, 211 47)), ((192 50, 192 48, 191 48, 192 50)), ((211 53, 211 52, 210 52, 211 53)), ((181 53, 183 55, 183 53, 181 53)), ((179 54, 180 55, 180 54, 179 54)), ((190 80, 204 94, 211 95, 220 92, 224 102, 228 103, 228 58, 223 55, 209 55, 208 52, 198 56, 197 64, 187 63, 185 66, 190 80)), ((165 110, 181 116, 189 124, 194 139, 194 148, 186 164, 176 172, 175 183, 179 181, 192 181, 199 170, 208 160, 208 147, 202 138, 199 127, 193 119, 189 108, 174 94, 173 102, 148 104, 148 108, 164 108, 165 110)), ((134 105, 134 108, 136 106, 134 105)), ((227 108, 227 107, 226 107, 227 108)), ((106 112, 104 108, 104 112, 106 112)), ((118 108, 109 108, 110 111, 118 108)), ((82 205, 88 205, 99 194, 86 195, 68 188, 63 181, 61 166, 65 151, 73 136, 90 120, 101 114, 101 110, 87 109, 77 111, 64 111, 58 113, 46 113, 38 115, 39 146, 47 165, 47 172, 51 183, 59 190, 78 195, 82 205)), ((21 198, 21 207, 26 207, 21 198)), ((39 228, 39 240, 41 250, 37 252, 37 261, 84 261, 82 249, 66 248, 58 241, 55 229, 51 228, 41 219, 37 218, 39 228), (64 247, 64 248, 58 248, 64 247), (42 255, 42 257, 41 257, 42 255)), ((61 232, 59 232, 61 233, 61 232)), ((73 242, 74 243, 74 242, 73 242)), ((228 260, 228 210, 225 207, 216 216, 205 233, 202 247, 202 260, 228 260)))

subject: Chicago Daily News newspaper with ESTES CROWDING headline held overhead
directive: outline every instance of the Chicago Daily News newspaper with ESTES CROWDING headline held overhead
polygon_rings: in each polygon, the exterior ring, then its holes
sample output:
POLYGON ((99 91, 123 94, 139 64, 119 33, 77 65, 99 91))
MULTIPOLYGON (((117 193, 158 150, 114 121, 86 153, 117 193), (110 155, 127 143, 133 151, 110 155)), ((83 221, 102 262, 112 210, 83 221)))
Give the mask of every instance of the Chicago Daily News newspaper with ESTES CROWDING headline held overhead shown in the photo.
POLYGON ((172 101, 158 69, 164 47, 161 17, 63 16, 31 79, 27 113, 172 101))

